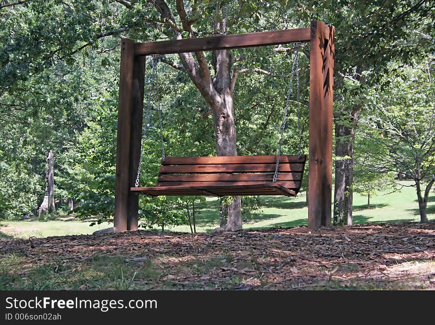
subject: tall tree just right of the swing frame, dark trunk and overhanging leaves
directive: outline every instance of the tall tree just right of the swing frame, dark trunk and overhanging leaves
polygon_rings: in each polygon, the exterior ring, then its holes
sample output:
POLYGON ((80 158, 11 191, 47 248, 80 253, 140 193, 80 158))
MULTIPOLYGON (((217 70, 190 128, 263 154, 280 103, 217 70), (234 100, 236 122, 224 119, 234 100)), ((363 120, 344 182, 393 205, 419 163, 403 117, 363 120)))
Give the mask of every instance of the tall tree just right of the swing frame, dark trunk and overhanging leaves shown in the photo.
MULTIPOLYGON (((332 2, 331 2, 332 3, 332 2)), ((364 88, 388 74, 391 61, 410 62, 433 50, 434 3, 389 1, 383 4, 334 1, 328 19, 336 26, 336 100, 334 219, 351 224, 354 137, 364 105, 364 88), (341 19, 352 15, 353 19, 341 19), (432 35, 432 36, 431 36, 432 35), (397 42, 400 39, 402 42, 397 42), (412 50, 411 50, 412 47, 412 50), (432 49, 431 49, 432 48, 432 49), (350 88, 347 87, 351 81, 350 88)), ((390 66, 391 67, 391 66, 390 66)))

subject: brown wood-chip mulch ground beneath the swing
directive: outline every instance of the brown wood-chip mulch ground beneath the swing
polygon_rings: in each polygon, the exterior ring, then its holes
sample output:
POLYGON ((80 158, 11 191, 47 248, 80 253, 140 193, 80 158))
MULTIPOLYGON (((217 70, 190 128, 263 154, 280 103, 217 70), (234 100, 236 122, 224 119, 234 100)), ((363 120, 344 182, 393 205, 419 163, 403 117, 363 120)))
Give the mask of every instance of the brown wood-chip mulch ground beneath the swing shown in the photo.
MULTIPOLYGON (((224 233, 134 231, 0 241, 32 263, 122 256, 152 263, 147 289, 435 289, 435 223, 224 233)), ((140 285, 143 281, 143 286, 140 285)))

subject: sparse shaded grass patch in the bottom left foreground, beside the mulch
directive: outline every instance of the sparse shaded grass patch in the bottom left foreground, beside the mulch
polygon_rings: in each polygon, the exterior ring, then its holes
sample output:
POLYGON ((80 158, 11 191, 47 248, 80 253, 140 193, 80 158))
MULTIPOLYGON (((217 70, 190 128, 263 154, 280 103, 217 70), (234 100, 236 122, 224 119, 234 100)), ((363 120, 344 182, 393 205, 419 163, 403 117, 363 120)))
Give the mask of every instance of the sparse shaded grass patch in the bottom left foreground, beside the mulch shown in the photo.
POLYGON ((78 267, 61 258, 41 265, 17 254, 0 259, 0 290, 128 290, 137 285, 147 288, 159 277, 153 263, 127 264, 124 256, 96 255, 78 267))

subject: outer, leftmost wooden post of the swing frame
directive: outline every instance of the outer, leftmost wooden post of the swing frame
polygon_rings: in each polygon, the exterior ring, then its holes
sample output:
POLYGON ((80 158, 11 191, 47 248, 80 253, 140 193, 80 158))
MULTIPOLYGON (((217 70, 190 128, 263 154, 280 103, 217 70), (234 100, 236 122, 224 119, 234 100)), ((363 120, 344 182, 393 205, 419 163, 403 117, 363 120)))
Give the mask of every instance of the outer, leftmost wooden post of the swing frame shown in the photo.
POLYGON ((116 140, 115 214, 114 226, 126 231, 130 194, 131 99, 133 82, 134 43, 121 41, 121 68, 118 99, 118 133, 116 140))

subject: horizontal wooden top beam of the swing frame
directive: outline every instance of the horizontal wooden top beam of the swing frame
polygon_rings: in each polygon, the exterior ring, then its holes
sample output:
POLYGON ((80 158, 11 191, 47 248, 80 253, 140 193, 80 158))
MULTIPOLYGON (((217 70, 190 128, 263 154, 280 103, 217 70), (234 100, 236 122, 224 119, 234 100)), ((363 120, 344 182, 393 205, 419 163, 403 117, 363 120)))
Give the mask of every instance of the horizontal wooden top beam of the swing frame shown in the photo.
POLYGON ((217 36, 196 39, 136 43, 134 44, 134 55, 174 54, 309 41, 309 28, 235 35, 219 34, 217 36))

